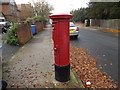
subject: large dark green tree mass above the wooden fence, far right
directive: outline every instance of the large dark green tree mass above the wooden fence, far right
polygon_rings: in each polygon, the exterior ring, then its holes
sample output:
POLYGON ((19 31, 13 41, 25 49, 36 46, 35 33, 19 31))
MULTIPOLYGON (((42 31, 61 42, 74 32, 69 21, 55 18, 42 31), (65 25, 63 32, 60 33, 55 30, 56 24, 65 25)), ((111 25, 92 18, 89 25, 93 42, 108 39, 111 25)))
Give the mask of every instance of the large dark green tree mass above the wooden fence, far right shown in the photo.
POLYGON ((120 2, 90 2, 86 17, 93 19, 120 19, 120 2))

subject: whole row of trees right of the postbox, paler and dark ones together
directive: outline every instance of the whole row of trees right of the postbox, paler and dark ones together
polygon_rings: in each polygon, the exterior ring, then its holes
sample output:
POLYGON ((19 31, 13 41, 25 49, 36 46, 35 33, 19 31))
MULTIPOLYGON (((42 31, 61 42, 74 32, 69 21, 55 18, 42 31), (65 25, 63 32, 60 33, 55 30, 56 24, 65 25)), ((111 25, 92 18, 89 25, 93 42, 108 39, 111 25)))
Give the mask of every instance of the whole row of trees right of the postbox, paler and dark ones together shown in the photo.
POLYGON ((70 12, 72 21, 84 22, 85 19, 120 19, 120 2, 89 2, 88 7, 70 12))

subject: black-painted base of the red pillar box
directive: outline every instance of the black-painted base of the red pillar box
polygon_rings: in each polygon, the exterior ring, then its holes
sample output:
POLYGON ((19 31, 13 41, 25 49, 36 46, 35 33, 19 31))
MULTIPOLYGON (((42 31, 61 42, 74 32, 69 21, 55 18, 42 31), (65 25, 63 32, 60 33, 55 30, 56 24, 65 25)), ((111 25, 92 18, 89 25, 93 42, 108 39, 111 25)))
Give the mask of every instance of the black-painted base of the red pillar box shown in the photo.
POLYGON ((70 64, 67 66, 55 65, 55 79, 59 82, 67 82, 70 80, 70 64))

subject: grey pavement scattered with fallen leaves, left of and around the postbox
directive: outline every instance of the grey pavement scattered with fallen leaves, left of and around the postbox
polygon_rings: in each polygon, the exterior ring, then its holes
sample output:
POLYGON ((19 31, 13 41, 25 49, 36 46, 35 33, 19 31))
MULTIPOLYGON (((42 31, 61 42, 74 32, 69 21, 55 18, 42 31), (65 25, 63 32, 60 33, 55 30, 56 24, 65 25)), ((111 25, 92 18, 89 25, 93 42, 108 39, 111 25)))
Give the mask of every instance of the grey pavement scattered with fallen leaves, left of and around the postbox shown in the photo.
POLYGON ((51 29, 47 25, 3 63, 3 80, 7 81, 8 88, 84 88, 74 71, 69 82, 54 79, 51 29))

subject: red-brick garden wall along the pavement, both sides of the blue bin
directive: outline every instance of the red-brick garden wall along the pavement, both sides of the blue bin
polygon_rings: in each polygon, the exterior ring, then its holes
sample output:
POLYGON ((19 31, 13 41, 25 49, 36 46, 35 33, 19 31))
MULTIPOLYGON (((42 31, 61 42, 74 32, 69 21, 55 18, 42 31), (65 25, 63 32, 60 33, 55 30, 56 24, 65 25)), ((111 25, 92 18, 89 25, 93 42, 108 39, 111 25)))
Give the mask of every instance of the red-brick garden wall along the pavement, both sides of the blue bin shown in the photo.
MULTIPOLYGON (((36 32, 39 33, 45 27, 46 23, 43 22, 36 22, 36 32)), ((18 24, 18 39, 20 44, 25 44, 28 42, 32 37, 32 30, 31 30, 31 23, 21 23, 18 24)))

